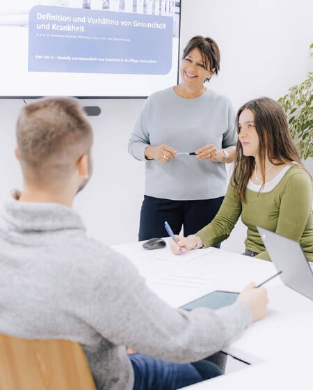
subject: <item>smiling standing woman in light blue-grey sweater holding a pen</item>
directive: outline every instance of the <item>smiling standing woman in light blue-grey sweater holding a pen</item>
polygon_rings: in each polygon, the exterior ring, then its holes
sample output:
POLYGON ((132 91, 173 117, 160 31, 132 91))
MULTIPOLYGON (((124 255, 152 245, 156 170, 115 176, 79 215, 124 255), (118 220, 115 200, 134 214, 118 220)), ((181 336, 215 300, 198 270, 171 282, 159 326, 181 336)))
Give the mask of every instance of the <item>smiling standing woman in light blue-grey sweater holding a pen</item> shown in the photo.
POLYGON ((218 45, 193 37, 184 49, 181 83, 150 95, 129 139, 145 161, 139 240, 168 235, 164 221, 188 235, 211 221, 227 188, 225 162, 235 155, 230 100, 204 86, 220 69, 218 45), (195 152, 195 155, 179 153, 195 152))

